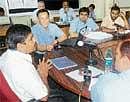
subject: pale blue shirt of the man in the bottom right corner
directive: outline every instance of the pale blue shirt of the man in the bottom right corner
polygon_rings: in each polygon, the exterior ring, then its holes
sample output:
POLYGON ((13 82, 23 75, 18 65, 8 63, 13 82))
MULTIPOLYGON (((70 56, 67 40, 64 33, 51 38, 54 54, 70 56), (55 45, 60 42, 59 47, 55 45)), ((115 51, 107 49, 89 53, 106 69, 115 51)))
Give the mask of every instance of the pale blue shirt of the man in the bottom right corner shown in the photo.
POLYGON ((99 77, 91 89, 92 102, 129 102, 130 70, 122 73, 106 73, 99 77))

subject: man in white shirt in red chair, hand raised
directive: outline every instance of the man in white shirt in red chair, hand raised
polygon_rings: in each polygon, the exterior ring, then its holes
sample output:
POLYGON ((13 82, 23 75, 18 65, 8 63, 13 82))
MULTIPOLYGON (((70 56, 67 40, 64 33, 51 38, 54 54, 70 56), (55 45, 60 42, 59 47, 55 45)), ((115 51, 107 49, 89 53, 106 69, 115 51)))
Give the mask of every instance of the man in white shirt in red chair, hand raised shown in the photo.
POLYGON ((36 42, 31 28, 22 24, 9 27, 6 34, 8 49, 0 57, 0 70, 10 88, 22 102, 32 99, 47 101, 49 62, 39 61, 38 72, 32 64, 30 53, 36 42))

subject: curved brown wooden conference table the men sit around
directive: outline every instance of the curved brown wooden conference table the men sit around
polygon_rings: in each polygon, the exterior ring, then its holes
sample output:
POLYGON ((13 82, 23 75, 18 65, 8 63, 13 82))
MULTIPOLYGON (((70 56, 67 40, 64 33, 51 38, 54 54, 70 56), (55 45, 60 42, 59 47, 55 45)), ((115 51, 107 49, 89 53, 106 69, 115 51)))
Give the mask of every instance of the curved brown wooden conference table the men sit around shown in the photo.
MULTIPOLYGON (((124 39, 110 40, 104 43, 100 43, 98 44, 98 48, 100 48, 101 52, 103 53, 103 56, 106 49, 108 48, 112 48, 113 55, 115 55, 116 46, 122 40, 124 39)), ((53 66, 53 68, 49 70, 49 76, 65 89, 77 95, 81 95, 83 98, 86 99, 85 102, 89 102, 89 100, 91 100, 90 91, 88 91, 90 83, 87 82, 87 84, 84 84, 84 82, 78 82, 67 76, 66 73, 77 69, 80 70, 81 68, 83 68, 87 59, 89 58, 88 52, 88 48, 85 47, 62 47, 61 49, 48 52, 48 57, 50 59, 67 56, 69 59, 73 60, 78 64, 77 67, 63 70, 58 70, 56 67, 53 66)), ((101 55, 98 55, 97 52, 97 49, 94 49, 94 58, 98 62, 95 67, 104 70, 104 60, 101 55)))

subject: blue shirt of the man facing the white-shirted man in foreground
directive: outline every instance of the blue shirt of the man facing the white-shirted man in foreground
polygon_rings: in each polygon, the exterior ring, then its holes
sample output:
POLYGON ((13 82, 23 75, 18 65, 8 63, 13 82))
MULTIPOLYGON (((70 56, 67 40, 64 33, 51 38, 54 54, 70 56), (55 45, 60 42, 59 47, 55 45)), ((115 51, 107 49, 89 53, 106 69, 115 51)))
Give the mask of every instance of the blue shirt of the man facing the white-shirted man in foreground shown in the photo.
POLYGON ((40 24, 36 24, 32 27, 32 33, 38 44, 51 44, 56 37, 64 34, 56 24, 52 23, 49 23, 47 29, 40 24))

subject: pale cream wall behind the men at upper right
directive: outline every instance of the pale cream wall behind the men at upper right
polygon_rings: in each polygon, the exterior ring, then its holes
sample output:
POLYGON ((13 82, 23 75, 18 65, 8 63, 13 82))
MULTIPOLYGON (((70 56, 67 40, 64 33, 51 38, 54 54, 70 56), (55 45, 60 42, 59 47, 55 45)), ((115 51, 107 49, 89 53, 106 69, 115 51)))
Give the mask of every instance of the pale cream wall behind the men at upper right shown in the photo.
POLYGON ((130 10, 130 0, 79 0, 79 2, 80 7, 94 3, 96 6, 95 12, 97 19, 101 19, 105 15, 108 15, 114 3, 119 4, 122 11, 130 10))

